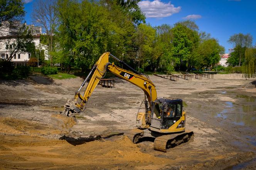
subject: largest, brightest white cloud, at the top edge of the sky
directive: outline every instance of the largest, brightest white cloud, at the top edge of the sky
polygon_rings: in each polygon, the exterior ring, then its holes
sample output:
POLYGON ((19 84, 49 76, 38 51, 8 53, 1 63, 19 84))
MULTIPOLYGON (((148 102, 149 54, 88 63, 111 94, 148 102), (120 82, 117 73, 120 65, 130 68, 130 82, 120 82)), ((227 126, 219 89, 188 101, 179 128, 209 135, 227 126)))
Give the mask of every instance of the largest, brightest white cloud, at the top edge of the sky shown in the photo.
POLYGON ((143 0, 138 3, 141 11, 145 13, 147 18, 169 17, 173 13, 180 12, 181 7, 174 7, 170 2, 163 3, 161 0, 143 0))

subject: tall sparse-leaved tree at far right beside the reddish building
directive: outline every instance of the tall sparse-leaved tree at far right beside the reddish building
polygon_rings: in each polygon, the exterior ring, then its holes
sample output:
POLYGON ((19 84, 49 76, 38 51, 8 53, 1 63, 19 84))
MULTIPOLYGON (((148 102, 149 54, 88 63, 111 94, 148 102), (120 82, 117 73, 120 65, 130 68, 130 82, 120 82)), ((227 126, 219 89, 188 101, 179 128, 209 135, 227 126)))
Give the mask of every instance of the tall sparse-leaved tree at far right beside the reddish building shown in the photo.
MULTIPOLYGON (((253 42, 253 37, 251 36, 251 34, 234 34, 231 35, 231 37, 229 38, 229 40, 227 41, 230 44, 234 45, 234 50, 236 51, 232 56, 235 58, 239 58, 239 63, 238 66, 241 66, 241 63, 243 63, 244 61, 244 52, 248 47, 252 46, 252 42, 253 42)), ((232 61, 236 61, 236 59, 232 59, 232 61)), ((227 61, 227 63, 229 63, 229 61, 227 61)))

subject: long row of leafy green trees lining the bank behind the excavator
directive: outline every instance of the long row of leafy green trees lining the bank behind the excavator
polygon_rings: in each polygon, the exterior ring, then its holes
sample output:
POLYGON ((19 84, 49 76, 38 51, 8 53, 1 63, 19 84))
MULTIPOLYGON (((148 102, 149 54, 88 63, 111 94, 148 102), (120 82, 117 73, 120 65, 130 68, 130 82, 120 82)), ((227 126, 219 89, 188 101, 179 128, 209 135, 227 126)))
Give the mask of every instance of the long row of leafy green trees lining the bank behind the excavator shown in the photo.
MULTIPOLYGON (((199 34, 199 27, 189 20, 173 27, 145 24, 139 1, 58 0, 54 10, 59 25, 54 50, 49 50, 51 62, 61 64, 61 71, 86 72, 101 54, 110 51, 141 72, 215 69, 224 51, 216 39, 199 34)), ((48 38, 40 39, 47 45, 48 38)))

